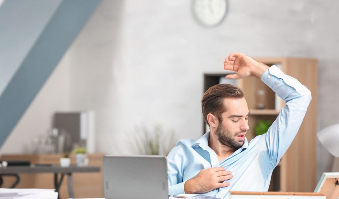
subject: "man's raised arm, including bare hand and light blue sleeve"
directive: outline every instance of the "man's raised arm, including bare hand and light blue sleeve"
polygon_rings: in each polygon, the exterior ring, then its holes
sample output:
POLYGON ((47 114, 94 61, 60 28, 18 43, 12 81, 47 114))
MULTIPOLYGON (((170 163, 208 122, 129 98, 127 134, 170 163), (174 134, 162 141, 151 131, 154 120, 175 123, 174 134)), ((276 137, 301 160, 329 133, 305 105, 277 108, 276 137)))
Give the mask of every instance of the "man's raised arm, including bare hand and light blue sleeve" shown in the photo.
POLYGON ((260 137, 262 150, 267 151, 273 166, 276 166, 298 133, 301 122, 311 101, 311 92, 298 80, 285 75, 276 66, 257 62, 242 53, 231 53, 225 59, 224 69, 237 72, 226 78, 241 79, 256 76, 282 98, 286 105, 268 132, 260 137))

